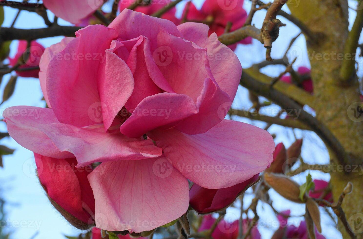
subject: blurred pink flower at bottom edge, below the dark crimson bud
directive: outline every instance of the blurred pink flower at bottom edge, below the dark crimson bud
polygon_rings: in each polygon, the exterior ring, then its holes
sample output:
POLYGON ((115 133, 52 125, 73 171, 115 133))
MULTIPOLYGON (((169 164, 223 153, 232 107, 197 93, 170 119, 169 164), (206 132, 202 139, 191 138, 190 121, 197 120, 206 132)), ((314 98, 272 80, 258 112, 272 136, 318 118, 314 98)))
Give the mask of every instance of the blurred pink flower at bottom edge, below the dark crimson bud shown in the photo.
MULTIPOLYGON (((217 219, 213 218, 211 214, 205 215, 198 231, 209 230, 217 219)), ((247 219, 243 219, 242 228, 243 233, 246 233, 249 226, 247 219)), ((221 219, 218 222, 215 230, 212 232, 212 238, 214 239, 237 239, 239 234, 240 226, 239 220, 232 223, 221 219)), ((261 234, 257 227, 252 227, 250 235, 246 239, 261 239, 261 234)))

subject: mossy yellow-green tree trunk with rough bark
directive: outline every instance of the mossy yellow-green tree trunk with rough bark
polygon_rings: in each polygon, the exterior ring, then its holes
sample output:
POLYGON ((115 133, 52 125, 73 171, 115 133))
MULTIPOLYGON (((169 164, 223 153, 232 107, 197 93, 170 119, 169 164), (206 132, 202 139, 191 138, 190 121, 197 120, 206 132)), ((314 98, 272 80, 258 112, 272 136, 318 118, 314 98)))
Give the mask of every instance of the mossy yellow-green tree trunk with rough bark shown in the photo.
MULTIPOLYGON (((343 53, 344 43, 348 36, 348 5, 346 0, 301 0, 289 1, 288 7, 293 16, 319 34, 319 42, 307 42, 308 55, 311 63, 311 76, 314 83, 316 102, 312 106, 317 112, 317 118, 325 123, 337 137, 343 147, 350 153, 355 162, 361 165, 363 160, 363 122, 352 121, 347 114, 348 107, 359 102, 358 81, 350 86, 338 86, 339 70, 342 61, 337 59, 338 53, 343 53), (320 59, 318 53, 325 54, 320 59)), ((336 158, 330 152, 331 163, 336 165, 336 158)), ((359 169, 359 167, 358 167, 359 169)), ((359 171, 359 170, 358 170, 359 171)), ((352 182, 353 191, 343 201, 343 210, 349 218, 357 213, 363 213, 363 172, 344 173, 331 172, 334 199, 337 200, 347 182, 352 182)), ((344 228, 339 230, 343 238, 349 238, 344 228)), ((363 234, 358 234, 363 238, 363 234)))

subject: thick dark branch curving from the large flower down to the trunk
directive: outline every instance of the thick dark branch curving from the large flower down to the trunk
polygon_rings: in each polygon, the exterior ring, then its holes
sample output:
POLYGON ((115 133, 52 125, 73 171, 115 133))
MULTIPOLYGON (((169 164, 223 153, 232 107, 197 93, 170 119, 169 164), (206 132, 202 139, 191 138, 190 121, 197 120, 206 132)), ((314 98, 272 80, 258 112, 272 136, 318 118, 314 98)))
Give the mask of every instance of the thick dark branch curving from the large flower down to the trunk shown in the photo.
POLYGON ((294 100, 282 94, 280 91, 269 87, 269 85, 259 82, 251 75, 246 73, 246 71, 242 71, 240 84, 253 91, 255 94, 273 100, 284 109, 293 110, 293 113, 296 117, 298 117, 298 120, 309 125, 309 127, 326 143, 327 147, 329 147, 335 153, 340 164, 346 165, 347 163, 350 164, 352 162, 350 156, 347 154, 347 152, 345 152, 344 148, 333 135, 333 133, 331 133, 329 129, 324 124, 319 122, 314 116, 304 111, 302 106, 296 103, 294 100), (296 112, 300 112, 299 115, 297 115, 296 112))

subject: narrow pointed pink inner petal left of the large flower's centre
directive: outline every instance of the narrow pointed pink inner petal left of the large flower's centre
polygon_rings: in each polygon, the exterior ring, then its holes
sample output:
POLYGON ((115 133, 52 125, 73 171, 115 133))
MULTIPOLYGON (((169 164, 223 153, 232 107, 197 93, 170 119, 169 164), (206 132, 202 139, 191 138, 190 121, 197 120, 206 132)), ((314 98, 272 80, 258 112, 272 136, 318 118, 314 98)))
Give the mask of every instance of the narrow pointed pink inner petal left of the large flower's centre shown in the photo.
POLYGON ((107 130, 132 94, 135 83, 129 66, 113 53, 113 49, 106 50, 103 66, 99 72, 98 92, 102 102, 103 124, 107 130))

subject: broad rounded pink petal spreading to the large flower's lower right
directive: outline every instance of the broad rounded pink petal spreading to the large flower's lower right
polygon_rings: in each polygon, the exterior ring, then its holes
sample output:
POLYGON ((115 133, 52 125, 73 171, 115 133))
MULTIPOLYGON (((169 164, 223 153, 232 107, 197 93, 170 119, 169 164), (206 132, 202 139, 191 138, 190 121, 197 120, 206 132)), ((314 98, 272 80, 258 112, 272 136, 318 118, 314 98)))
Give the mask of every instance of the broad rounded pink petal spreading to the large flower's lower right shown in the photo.
POLYGON ((265 130, 223 120, 208 132, 187 135, 171 128, 148 136, 163 148, 173 166, 203 188, 227 188, 268 168, 274 141, 265 130))

